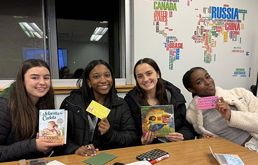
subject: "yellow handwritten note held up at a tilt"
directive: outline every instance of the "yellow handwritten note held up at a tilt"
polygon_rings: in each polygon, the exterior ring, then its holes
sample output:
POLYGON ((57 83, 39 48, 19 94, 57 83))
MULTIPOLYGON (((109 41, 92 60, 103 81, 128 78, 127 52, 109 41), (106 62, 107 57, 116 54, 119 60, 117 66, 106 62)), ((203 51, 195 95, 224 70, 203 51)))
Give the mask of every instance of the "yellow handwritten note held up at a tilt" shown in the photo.
POLYGON ((100 119, 103 119, 107 117, 107 115, 110 112, 110 109, 106 108, 102 104, 97 103, 93 100, 87 107, 86 111, 97 116, 100 119))

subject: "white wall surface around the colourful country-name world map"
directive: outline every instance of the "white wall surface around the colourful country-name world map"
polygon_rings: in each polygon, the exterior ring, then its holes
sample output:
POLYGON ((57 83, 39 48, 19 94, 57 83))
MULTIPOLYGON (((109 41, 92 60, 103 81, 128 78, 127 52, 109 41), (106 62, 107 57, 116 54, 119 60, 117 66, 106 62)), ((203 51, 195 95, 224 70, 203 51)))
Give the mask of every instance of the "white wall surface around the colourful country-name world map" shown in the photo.
MULTIPOLYGON (((256 84, 258 69, 258 40, 255 37, 258 33, 257 0, 189 0, 189 6, 186 0, 177 2, 177 11, 173 11, 173 17, 168 17, 167 21, 167 26, 173 30, 165 30, 167 36, 175 36, 178 38, 177 42, 183 43, 183 49, 180 49, 180 60, 174 62, 173 70, 169 69, 170 55, 163 43, 166 42, 166 37, 156 33, 154 2, 160 1, 134 0, 134 63, 146 57, 154 59, 161 69, 162 78, 179 87, 188 103, 192 97, 183 87, 182 77, 187 70, 195 66, 206 68, 216 85, 226 89, 233 87, 250 89, 251 85, 256 84), (247 9, 244 21, 242 14, 239 13, 239 20, 242 20, 244 29, 240 30, 237 41, 228 39, 228 42, 224 42, 223 36, 212 38, 216 41, 216 47, 212 48, 212 62, 204 63, 205 49, 202 47, 204 43, 195 43, 192 39, 198 26, 199 14, 207 16, 208 14, 203 13, 204 7, 223 7, 224 4, 228 4, 231 8, 247 9), (241 43, 239 37, 241 37, 241 43), (232 53, 233 47, 241 47, 244 53, 232 53), (246 51, 249 51, 249 56, 245 55, 246 51), (216 54, 215 62, 214 54, 216 54), (250 77, 249 67, 251 67, 250 77), (236 68, 245 68, 246 77, 233 77, 236 68)), ((165 29, 165 22, 159 21, 159 30, 162 29, 165 29)))

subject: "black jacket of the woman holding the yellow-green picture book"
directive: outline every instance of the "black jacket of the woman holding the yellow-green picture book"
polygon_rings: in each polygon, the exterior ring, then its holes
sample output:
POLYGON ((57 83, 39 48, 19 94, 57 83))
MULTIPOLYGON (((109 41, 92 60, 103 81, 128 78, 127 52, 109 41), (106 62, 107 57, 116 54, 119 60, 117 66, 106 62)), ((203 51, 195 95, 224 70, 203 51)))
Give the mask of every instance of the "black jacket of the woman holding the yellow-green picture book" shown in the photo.
MULTIPOLYGON (((178 87, 170 82, 162 80, 165 88, 171 93, 170 104, 174 105, 174 119, 175 119, 175 131, 183 135, 184 140, 190 140, 195 138, 195 131, 191 124, 185 120, 186 107, 185 99, 181 94, 178 87)), ((136 87, 130 90, 126 96, 125 101, 127 102, 129 109, 131 110, 131 115, 133 117, 134 123, 137 129, 137 145, 141 145, 142 137, 142 121, 141 121, 141 103, 139 101, 139 92, 136 87)), ((158 143, 156 140, 153 143, 158 143)))

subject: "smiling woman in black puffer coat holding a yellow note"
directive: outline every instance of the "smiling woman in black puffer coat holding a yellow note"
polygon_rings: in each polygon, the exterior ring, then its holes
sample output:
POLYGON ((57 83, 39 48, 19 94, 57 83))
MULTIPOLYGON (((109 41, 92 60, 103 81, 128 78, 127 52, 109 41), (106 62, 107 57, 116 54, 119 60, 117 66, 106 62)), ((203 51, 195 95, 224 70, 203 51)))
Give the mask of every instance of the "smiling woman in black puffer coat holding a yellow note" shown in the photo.
POLYGON ((77 86, 79 89, 73 90, 60 107, 68 110, 64 154, 95 156, 99 149, 128 147, 136 143, 133 119, 126 102, 116 95, 113 70, 108 63, 103 60, 90 62, 77 86), (106 118, 99 119, 86 111, 92 100, 111 110, 106 118))

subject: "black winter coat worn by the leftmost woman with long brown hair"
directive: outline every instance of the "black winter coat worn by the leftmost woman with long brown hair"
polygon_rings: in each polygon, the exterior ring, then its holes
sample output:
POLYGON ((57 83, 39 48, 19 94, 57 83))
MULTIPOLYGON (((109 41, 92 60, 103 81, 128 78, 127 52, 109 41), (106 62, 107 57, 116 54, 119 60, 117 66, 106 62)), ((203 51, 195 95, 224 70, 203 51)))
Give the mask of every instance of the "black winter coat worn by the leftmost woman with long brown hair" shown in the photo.
MULTIPOLYGON (((36 137, 36 135, 35 135, 36 137)), ((0 162, 46 157, 37 151, 36 138, 16 141, 12 132, 7 99, 0 98, 0 162)))

